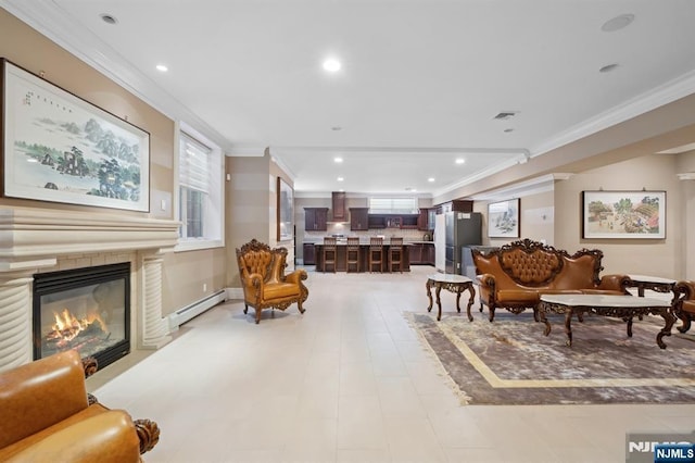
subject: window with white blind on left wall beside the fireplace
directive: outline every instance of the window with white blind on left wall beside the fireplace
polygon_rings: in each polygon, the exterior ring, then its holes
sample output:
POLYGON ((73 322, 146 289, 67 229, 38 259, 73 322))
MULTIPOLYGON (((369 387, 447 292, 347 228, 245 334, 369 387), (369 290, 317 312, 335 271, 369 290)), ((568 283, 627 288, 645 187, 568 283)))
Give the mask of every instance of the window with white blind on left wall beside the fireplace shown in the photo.
POLYGON ((179 133, 179 250, 223 245, 223 168, 220 149, 200 134, 179 133))

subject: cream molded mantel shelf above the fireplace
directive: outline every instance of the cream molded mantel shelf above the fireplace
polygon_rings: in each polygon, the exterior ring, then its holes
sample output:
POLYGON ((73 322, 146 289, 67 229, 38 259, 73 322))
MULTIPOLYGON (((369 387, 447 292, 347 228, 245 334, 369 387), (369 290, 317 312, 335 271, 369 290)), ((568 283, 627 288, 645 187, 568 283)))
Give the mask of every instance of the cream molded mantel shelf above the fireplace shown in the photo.
POLYGON ((108 213, 0 209, 0 272, 55 265, 65 254, 173 249, 179 223, 108 213))

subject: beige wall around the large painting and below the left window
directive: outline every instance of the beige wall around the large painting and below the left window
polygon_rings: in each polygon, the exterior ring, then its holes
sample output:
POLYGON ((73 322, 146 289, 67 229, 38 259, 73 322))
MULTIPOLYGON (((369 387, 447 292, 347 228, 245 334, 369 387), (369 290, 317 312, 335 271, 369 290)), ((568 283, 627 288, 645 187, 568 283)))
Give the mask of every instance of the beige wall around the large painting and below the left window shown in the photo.
MULTIPOLYGON (((150 133, 150 207, 152 211, 139 213, 103 210, 114 216, 146 215, 173 218, 170 204, 174 195, 174 146, 176 128, 173 120, 148 105, 123 87, 89 67, 48 38, 26 26, 0 9, 0 55, 63 89, 80 97, 118 117, 150 133), (166 211, 161 211, 160 199, 167 199, 166 211)), ((0 207, 22 205, 41 209, 94 211, 94 208, 73 204, 0 198, 0 207)), ((163 265, 163 314, 167 315, 202 299, 205 293, 225 287, 225 253, 223 249, 169 253, 163 265), (207 290, 202 290, 203 284, 207 290)))

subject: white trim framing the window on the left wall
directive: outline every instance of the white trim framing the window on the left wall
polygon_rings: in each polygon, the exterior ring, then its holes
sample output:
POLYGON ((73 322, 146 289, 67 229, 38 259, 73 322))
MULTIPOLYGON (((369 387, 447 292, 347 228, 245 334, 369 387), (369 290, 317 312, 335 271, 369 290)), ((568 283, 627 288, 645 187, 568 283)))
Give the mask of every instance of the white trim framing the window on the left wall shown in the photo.
POLYGON ((205 249, 216 249, 224 248, 225 246, 225 154, 222 152, 222 149, 212 141, 210 138, 186 124, 185 122, 177 121, 175 124, 175 139, 174 139, 174 152, 176 153, 176 158, 174 160, 174 191, 175 191, 175 200, 173 202, 174 217, 176 220, 180 220, 180 185, 179 185, 179 166, 178 166, 178 157, 180 150, 180 133, 185 132, 191 137, 194 137, 200 142, 211 147, 213 151, 219 153, 219 210, 223 213, 223 216, 219 218, 219 238, 218 239, 206 239, 206 238, 178 238, 178 243, 174 247, 174 252, 187 252, 187 251, 200 251, 205 249))

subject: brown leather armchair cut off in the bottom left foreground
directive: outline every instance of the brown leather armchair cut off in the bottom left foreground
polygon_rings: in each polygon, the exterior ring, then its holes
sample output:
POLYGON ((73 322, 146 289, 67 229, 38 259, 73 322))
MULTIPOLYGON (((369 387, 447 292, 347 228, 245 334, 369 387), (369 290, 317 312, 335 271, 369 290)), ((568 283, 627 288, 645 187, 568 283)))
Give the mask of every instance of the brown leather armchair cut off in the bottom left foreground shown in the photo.
POLYGON ((88 396, 74 350, 1 373, 0 410, 2 462, 140 462, 160 436, 155 423, 88 396))

